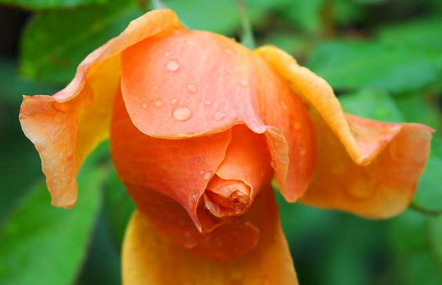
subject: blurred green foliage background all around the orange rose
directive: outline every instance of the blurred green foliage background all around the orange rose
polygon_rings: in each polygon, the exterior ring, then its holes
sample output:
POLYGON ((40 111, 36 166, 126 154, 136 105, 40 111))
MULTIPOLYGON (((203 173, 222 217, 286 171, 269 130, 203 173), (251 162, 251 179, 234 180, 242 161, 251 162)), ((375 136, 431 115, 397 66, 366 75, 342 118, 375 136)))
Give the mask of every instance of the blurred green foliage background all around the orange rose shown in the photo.
MULTIPOLYGON (((19 47, 12 43, 12 52, 0 54, 0 284, 119 284, 119 251, 135 207, 111 167, 108 144, 83 166, 77 206, 52 208, 39 157, 17 114, 21 95, 62 88, 78 63, 122 32, 148 1, 1 3, 5 14, 20 8, 32 17, 19 47)), ((241 35, 234 0, 164 3, 189 28, 241 35)), ((258 46, 275 44, 327 79, 347 112, 442 130, 442 1, 245 4, 258 46)), ((441 174, 436 132, 412 206, 394 219, 361 219, 278 196, 300 283, 442 284, 441 174)))

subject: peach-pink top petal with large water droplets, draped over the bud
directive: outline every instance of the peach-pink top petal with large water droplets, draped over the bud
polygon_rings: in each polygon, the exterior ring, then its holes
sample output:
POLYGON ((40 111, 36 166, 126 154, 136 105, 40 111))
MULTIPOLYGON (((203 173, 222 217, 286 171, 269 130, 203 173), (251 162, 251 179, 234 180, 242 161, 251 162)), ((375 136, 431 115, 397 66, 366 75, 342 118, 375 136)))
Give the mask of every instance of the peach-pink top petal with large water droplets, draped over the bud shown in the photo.
POLYGON ((235 124, 265 132, 283 195, 296 199, 307 188, 314 131, 302 99, 239 43, 189 30, 146 39, 122 53, 122 92, 135 126, 153 137, 195 137, 235 124))

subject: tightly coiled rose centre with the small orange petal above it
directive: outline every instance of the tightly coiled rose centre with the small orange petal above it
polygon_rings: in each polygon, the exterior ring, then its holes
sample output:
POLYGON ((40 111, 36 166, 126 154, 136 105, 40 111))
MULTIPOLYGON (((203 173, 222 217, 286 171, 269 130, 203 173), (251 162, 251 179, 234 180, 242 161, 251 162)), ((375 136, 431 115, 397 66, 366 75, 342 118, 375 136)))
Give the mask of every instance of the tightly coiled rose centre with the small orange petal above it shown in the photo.
POLYGON ((244 214, 259 191, 270 183, 270 161, 263 135, 244 125, 234 126, 226 155, 207 186, 206 207, 218 217, 244 214))

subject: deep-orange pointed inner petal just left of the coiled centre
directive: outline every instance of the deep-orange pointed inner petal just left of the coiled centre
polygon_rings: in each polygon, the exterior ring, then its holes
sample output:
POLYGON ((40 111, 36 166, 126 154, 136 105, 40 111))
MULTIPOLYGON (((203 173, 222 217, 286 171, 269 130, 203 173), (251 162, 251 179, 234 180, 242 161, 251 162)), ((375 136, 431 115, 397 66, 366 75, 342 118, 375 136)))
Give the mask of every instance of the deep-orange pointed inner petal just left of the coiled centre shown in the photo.
POLYGON ((198 202, 230 141, 230 130, 192 139, 144 135, 132 124, 121 92, 115 97, 111 155, 120 179, 142 210, 146 207, 140 203, 148 198, 144 191, 156 190, 181 204, 203 230, 205 225, 197 216, 198 202))

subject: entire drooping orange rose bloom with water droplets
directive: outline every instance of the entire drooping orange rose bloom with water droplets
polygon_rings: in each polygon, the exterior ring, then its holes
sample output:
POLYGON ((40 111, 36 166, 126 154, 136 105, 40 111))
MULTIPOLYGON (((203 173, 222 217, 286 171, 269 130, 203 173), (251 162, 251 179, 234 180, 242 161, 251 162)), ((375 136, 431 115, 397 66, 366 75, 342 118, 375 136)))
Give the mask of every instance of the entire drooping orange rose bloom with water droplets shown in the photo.
POLYGON ((433 131, 345 114, 282 50, 187 30, 171 10, 132 21, 55 95, 25 96, 19 117, 54 206, 75 205, 82 161, 110 137, 137 205, 126 285, 297 284, 273 175, 288 202, 392 217, 433 131))

